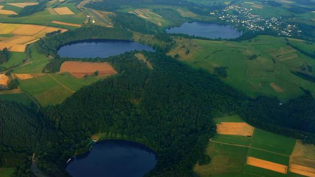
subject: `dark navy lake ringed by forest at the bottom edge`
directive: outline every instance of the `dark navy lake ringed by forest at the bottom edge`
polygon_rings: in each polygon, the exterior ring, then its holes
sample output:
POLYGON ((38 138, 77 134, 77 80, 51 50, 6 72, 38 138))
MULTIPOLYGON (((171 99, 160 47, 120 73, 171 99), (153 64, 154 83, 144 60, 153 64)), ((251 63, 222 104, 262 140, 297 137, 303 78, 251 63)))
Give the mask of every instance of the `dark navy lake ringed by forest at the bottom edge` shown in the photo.
POLYGON ((156 162, 156 155, 148 147, 110 139, 95 144, 88 154, 76 156, 67 165, 67 171, 73 177, 141 177, 156 162))

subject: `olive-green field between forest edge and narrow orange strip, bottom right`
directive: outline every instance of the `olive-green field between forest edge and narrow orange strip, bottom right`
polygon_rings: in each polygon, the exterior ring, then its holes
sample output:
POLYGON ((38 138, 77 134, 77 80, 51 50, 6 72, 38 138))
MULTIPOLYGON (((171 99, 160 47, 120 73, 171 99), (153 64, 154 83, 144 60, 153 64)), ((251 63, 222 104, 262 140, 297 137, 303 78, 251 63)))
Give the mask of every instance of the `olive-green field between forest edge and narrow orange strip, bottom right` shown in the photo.
POLYGON ((200 176, 242 172, 247 150, 248 148, 244 147, 210 142, 206 154, 211 157, 211 162, 202 166, 196 164, 194 171, 200 176))

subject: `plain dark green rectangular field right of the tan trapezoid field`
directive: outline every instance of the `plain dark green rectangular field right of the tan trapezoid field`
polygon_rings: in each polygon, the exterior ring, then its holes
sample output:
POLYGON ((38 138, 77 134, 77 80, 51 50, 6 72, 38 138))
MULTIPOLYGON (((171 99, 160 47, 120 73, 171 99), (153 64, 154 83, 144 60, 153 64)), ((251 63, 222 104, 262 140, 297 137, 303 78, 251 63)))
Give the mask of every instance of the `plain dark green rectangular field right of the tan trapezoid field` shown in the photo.
POLYGON ((294 138, 281 136, 256 128, 251 141, 251 146, 275 153, 291 155, 295 142, 296 139, 294 138))

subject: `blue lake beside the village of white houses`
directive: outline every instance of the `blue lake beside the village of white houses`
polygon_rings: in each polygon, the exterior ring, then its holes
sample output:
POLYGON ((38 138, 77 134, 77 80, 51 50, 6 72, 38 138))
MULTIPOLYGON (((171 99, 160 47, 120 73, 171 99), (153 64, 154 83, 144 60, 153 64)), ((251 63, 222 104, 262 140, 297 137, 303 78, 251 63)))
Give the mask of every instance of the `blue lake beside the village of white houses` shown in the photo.
POLYGON ((206 22, 192 22, 184 23, 180 27, 173 27, 167 29, 168 33, 184 33, 189 36, 205 37, 210 39, 234 39, 242 35, 242 32, 231 25, 206 23, 206 22))

